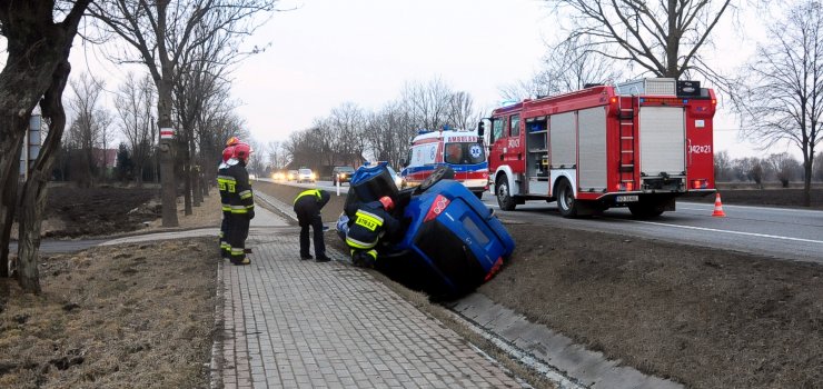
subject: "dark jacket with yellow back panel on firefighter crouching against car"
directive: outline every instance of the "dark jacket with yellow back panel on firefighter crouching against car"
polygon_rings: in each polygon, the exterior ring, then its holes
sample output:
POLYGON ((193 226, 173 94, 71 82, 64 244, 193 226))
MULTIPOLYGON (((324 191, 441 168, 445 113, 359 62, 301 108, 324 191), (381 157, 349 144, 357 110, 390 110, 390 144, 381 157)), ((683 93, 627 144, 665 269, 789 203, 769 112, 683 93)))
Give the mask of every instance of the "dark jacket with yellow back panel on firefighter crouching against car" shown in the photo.
POLYGON ((380 238, 393 236, 400 228, 400 222, 383 209, 379 201, 360 205, 349 223, 346 245, 353 249, 368 250, 377 246, 380 238))

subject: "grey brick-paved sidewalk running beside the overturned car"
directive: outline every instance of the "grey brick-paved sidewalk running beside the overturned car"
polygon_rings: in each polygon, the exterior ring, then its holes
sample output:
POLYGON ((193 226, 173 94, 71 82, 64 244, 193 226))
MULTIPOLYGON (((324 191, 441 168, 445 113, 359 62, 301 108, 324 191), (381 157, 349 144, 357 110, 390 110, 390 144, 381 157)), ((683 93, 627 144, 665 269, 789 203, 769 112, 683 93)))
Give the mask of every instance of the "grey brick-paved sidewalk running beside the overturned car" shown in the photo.
POLYGON ((220 269, 226 388, 525 386, 367 271, 299 260, 297 241, 256 233, 251 265, 220 269))

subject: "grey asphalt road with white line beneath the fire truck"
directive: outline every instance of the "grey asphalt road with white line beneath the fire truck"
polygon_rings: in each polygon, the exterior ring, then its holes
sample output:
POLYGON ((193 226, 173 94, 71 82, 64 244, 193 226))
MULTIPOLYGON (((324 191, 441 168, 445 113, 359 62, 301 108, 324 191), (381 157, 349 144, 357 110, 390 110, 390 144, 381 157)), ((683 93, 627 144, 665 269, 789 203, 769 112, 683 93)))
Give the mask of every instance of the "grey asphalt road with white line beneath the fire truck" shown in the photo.
MULTIPOLYGON (((287 183, 337 189, 330 181, 287 183)), ((348 183, 344 183, 340 192, 347 191, 348 183)), ((712 217, 714 205, 678 201, 676 211, 652 220, 634 220, 625 208, 609 209, 592 219, 564 219, 554 202, 528 201, 507 212, 499 210, 492 194, 484 194, 483 200, 502 219, 514 222, 523 220, 823 263, 823 211, 726 203, 723 205, 726 217, 715 218, 712 217)))

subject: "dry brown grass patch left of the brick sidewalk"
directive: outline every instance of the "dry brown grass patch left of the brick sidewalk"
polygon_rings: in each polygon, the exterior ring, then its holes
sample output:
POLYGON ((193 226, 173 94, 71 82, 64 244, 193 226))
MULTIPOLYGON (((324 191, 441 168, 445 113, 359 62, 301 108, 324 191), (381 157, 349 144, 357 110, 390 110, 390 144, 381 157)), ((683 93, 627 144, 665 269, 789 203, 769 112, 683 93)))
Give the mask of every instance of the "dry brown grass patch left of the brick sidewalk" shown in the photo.
POLYGON ((44 258, 41 296, 2 280, 0 387, 207 387, 212 246, 163 241, 44 258))

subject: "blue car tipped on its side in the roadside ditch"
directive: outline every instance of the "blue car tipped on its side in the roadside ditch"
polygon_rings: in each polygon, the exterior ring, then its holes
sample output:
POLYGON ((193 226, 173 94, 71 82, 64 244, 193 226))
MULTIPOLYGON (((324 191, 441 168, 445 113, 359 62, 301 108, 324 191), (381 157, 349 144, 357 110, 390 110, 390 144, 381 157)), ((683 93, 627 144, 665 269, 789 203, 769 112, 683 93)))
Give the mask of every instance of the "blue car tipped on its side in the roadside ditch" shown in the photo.
MULTIPOLYGON (((391 279, 435 299, 463 296, 500 270, 515 242, 494 212, 439 167, 420 186, 398 190, 385 163, 361 167, 351 178, 346 209, 357 202, 389 196, 397 205, 393 216, 400 232, 377 247, 375 268, 391 279)), ((343 215, 338 233, 345 240, 343 215)))

